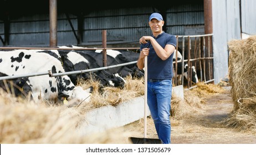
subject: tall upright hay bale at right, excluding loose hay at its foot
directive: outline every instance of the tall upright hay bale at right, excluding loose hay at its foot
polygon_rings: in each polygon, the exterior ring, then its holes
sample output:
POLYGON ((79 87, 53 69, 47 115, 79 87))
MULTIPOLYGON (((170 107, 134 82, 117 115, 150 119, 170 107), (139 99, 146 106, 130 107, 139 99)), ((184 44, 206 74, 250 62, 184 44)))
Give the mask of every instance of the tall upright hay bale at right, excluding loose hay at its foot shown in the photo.
POLYGON ((234 112, 239 109, 239 99, 254 97, 256 92, 256 35, 228 43, 229 80, 234 100, 234 112))

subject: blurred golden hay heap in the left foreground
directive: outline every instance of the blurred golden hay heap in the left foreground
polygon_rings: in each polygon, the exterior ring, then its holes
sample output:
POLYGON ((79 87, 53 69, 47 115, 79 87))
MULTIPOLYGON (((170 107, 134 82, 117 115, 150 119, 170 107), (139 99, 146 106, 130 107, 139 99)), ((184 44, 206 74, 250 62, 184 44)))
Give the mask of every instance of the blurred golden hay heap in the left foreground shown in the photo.
POLYGON ((49 106, 15 98, 0 90, 0 143, 127 143, 127 133, 84 135, 79 107, 49 106))

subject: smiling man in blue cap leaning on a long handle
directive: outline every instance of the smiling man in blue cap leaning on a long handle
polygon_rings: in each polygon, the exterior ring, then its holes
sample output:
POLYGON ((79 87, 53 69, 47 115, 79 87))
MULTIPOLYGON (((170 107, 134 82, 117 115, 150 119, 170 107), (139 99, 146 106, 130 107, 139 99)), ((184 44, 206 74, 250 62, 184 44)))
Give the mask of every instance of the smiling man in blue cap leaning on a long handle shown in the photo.
POLYGON ((141 52, 137 66, 142 70, 147 56, 147 104, 158 138, 168 144, 171 143, 172 57, 177 40, 175 35, 163 32, 164 23, 161 14, 151 14, 149 26, 152 35, 140 38, 141 52))

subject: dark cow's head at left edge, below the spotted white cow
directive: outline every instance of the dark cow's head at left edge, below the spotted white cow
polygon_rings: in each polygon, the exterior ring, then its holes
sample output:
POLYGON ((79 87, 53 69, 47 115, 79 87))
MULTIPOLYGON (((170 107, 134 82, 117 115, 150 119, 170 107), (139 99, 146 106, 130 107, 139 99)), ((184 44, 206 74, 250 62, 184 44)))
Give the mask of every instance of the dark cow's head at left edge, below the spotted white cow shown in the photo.
MULTIPOLYGON (((7 74, 0 73, 0 77, 8 76, 7 74)), ((4 91, 14 94, 16 97, 23 97, 24 99, 33 100, 32 85, 28 77, 21 77, 11 80, 0 80, 0 88, 4 91)))

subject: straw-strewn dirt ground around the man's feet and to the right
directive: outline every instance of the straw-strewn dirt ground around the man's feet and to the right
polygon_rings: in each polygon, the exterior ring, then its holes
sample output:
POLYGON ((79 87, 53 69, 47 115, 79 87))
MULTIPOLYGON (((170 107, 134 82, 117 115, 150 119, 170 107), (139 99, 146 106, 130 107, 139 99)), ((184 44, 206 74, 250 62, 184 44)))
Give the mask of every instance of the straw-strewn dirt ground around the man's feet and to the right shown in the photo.
MULTIPOLYGON (((256 144, 256 135, 224 126, 221 122, 233 110, 230 89, 221 94, 204 97, 205 104, 200 113, 192 117, 171 119, 171 143, 173 144, 256 144)), ((124 127, 132 131, 132 137, 144 137, 143 120, 124 127)), ((157 138, 151 118, 147 118, 147 138, 157 138)))

